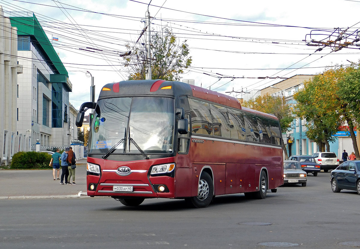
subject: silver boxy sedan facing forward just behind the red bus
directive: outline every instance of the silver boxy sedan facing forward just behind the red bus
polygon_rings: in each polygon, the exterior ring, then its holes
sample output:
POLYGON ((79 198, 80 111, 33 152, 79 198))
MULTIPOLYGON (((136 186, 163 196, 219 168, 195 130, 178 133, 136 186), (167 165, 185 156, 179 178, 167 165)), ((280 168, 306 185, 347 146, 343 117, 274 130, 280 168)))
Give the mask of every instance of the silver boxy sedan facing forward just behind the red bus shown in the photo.
POLYGON ((306 186, 306 172, 301 170, 300 163, 298 161, 286 160, 284 161, 284 184, 301 183, 302 187, 306 186))

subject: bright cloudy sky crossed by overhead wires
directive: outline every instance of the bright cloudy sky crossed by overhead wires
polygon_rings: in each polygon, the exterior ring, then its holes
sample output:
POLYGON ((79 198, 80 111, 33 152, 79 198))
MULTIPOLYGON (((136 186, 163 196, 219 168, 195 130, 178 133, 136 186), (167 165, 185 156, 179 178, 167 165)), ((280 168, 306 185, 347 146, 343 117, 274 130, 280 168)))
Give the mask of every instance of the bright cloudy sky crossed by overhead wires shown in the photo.
MULTIPOLYGON (((58 38, 53 46, 69 72, 70 102, 77 109, 90 98, 86 71, 94 76, 96 98, 103 85, 127 79, 119 55, 126 52, 126 43, 139 38, 149 3, 0 0, 4 10, 35 13, 49 39, 58 38)), ((319 47, 306 44, 334 40, 339 32, 342 43, 354 41, 359 9, 355 0, 152 0, 149 5, 151 30, 167 25, 181 42, 187 40, 193 62, 183 79, 221 93, 262 89, 282 80, 259 77, 316 74, 327 66, 358 62, 360 47, 316 51, 319 47)))

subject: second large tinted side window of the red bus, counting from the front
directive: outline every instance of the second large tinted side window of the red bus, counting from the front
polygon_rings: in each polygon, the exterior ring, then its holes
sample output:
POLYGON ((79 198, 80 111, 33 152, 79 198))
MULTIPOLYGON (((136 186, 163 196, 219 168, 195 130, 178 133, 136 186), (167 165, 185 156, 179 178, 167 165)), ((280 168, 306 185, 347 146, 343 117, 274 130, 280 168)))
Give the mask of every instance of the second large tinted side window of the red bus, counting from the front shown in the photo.
POLYGON ((210 110, 212 115, 213 135, 230 138, 228 109, 220 105, 210 104, 210 110))

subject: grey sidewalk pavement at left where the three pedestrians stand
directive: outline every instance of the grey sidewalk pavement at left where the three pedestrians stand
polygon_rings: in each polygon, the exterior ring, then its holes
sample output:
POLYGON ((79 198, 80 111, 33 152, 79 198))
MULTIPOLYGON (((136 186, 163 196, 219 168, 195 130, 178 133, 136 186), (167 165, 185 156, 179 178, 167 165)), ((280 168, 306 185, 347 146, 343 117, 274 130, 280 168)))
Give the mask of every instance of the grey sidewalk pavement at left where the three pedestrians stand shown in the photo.
POLYGON ((75 182, 61 185, 60 180, 54 181, 52 169, 0 170, 0 199, 87 197, 86 158, 76 161, 75 182))

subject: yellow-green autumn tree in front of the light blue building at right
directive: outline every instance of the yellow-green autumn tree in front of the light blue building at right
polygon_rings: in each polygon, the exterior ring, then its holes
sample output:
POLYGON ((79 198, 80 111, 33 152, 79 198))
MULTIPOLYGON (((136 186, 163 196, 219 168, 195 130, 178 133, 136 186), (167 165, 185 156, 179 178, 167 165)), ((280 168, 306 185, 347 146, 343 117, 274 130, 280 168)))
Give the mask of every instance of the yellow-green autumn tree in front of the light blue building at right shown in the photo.
MULTIPOLYGON (((348 102, 341 97, 339 83, 346 79, 353 69, 336 67, 325 70, 304 83, 304 88, 294 94, 297 101, 296 115, 305 118, 308 131, 306 135, 317 142, 324 143, 330 150, 329 142, 339 126, 349 126, 350 137, 356 156, 359 154, 354 133, 354 116, 350 112, 348 102)), ((319 147, 319 150, 321 148, 319 147)))

